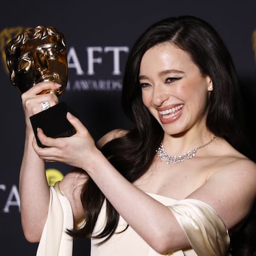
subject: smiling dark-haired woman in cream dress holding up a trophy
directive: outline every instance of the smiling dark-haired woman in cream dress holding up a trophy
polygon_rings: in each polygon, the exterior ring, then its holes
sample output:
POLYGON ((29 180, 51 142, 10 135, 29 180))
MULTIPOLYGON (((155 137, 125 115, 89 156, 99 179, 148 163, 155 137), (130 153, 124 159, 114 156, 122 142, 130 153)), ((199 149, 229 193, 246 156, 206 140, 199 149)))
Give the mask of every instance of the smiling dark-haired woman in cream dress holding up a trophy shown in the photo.
POLYGON ((52 139, 39 127, 48 147, 38 147, 29 116, 43 101, 58 103, 39 95, 58 87, 38 83, 22 95, 20 206, 25 237, 41 239, 38 255, 70 255, 70 236, 91 237, 93 256, 229 254, 255 200, 256 168, 243 151, 236 71, 208 23, 162 20, 135 42, 122 90, 132 130, 113 130, 95 145, 67 113, 77 133, 52 139), (76 168, 49 189, 45 161, 76 168))

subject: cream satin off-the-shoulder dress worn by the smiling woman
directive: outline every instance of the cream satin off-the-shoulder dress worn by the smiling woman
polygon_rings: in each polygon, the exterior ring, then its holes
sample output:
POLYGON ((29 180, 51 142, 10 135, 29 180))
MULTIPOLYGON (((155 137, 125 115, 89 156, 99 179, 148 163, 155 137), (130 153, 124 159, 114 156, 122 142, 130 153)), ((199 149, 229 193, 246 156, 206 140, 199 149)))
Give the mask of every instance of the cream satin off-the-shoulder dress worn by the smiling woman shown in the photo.
MULTIPOLYGON (((69 200, 59 190, 58 183, 50 187, 48 218, 43 229, 36 256, 72 256, 73 241, 66 234, 73 228, 72 209, 69 200)), ((228 256, 228 229, 216 211, 195 199, 175 200, 162 195, 150 194, 174 214, 184 229, 191 247, 166 254, 158 254, 142 237, 135 233, 120 216, 115 234, 101 245, 103 239, 91 239, 91 256, 228 256), (126 229, 124 231, 124 229, 126 229), (124 232, 122 232, 124 231, 124 232)), ((106 223, 106 201, 101 207, 93 236, 100 233, 106 223)), ((152 234, 153 236, 153 234, 152 234)), ((75 256, 75 255, 74 255, 75 256)))

